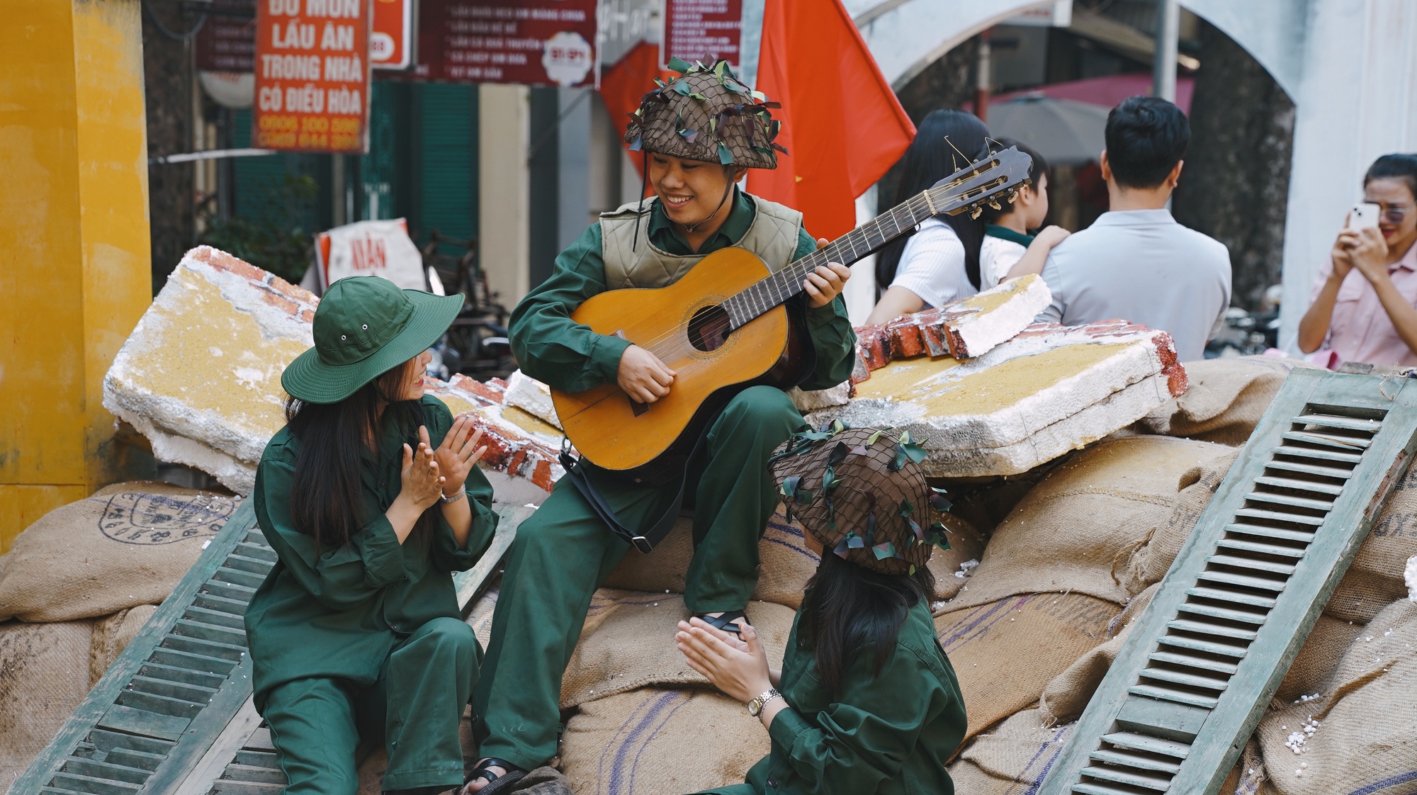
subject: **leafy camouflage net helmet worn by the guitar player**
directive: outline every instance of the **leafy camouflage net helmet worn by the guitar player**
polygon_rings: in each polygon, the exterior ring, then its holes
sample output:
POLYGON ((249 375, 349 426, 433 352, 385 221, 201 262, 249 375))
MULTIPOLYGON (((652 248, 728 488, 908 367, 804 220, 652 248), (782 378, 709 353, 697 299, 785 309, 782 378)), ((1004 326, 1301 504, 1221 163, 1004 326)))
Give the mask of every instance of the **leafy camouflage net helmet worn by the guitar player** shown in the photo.
POLYGON ((721 166, 777 169, 774 143, 782 122, 772 118, 777 102, 738 82, 727 61, 711 67, 689 65, 679 58, 669 68, 680 75, 656 88, 629 115, 625 143, 631 152, 657 152, 686 160, 721 166))

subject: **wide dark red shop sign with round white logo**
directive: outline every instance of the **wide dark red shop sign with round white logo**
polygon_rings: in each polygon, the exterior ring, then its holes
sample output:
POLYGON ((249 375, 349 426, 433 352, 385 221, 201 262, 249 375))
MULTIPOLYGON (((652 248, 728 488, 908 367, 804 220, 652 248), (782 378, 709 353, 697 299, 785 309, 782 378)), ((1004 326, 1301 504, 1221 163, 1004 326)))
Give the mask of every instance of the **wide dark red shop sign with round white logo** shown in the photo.
POLYGON ((422 0, 418 65, 448 82, 595 85, 597 0, 422 0))

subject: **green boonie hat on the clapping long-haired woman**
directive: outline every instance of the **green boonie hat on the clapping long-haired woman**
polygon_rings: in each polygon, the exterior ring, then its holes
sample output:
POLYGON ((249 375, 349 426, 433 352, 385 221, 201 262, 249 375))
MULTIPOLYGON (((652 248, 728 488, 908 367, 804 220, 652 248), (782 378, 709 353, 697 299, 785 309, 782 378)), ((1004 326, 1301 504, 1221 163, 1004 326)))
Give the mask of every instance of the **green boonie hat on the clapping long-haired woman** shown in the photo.
POLYGON ((461 310, 461 293, 402 291, 380 276, 340 279, 315 309, 315 347, 295 357, 281 385, 305 402, 339 402, 428 350, 461 310))

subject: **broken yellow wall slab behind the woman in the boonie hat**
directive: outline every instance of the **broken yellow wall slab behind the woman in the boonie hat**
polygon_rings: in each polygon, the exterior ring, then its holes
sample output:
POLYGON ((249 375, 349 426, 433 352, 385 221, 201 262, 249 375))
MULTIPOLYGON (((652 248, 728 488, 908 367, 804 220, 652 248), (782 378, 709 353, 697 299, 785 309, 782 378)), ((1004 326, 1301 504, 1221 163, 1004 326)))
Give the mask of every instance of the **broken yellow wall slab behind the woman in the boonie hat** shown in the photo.
MULTIPOLYGON (((249 493, 261 452, 285 425, 281 373, 313 344, 317 305, 313 293, 279 276, 197 247, 115 357, 103 405, 147 436, 160 461, 249 493)), ((502 381, 456 376, 425 384, 453 414, 476 414, 489 448, 482 468, 503 482, 499 497, 506 490, 519 502, 546 499, 561 475, 555 428, 504 407, 502 381)))

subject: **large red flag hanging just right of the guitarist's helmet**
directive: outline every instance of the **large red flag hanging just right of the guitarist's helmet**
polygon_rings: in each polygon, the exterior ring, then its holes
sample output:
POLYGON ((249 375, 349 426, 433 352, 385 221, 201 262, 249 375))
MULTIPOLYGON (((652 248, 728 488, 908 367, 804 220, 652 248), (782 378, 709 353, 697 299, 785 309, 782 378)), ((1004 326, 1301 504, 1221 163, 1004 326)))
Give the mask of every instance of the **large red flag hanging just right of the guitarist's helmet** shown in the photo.
POLYGON ((856 197, 910 146, 915 125, 871 58, 842 0, 767 0, 758 91, 781 102, 772 171, 748 190, 802 211, 806 230, 837 238, 856 227, 856 197))

